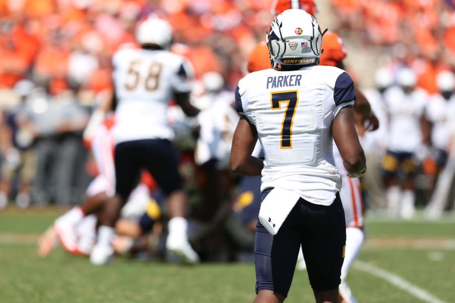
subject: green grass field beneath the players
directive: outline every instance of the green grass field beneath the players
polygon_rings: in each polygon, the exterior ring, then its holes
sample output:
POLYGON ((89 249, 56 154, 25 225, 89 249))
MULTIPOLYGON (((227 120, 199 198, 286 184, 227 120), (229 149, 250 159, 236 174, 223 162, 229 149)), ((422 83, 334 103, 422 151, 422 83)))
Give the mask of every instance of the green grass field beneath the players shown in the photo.
MULTIPOLYGON (((36 254, 33 239, 61 211, 0 213, 0 302, 251 302, 253 264, 194 267, 118 258, 94 267, 57 249, 36 254)), ((455 220, 367 220, 368 240, 358 260, 398 275, 434 298, 455 302, 455 220)), ((351 268, 348 281, 359 302, 419 302, 385 278, 351 268)), ((305 271, 297 271, 287 302, 312 302, 305 271)), ((431 300, 427 300, 431 301, 431 300)))

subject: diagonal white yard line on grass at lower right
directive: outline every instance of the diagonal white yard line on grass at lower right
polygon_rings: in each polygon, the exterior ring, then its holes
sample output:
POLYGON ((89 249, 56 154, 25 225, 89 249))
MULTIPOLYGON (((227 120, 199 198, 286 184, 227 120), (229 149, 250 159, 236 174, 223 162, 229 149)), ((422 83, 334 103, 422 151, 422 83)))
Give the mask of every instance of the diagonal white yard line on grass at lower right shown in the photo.
POLYGON ((373 264, 355 261, 352 265, 353 268, 381 278, 390 284, 396 286, 397 288, 413 295, 414 297, 429 303, 445 303, 444 301, 438 299, 433 294, 429 293, 425 289, 420 288, 419 286, 414 285, 413 283, 403 279, 402 277, 386 271, 382 268, 379 268, 373 264))

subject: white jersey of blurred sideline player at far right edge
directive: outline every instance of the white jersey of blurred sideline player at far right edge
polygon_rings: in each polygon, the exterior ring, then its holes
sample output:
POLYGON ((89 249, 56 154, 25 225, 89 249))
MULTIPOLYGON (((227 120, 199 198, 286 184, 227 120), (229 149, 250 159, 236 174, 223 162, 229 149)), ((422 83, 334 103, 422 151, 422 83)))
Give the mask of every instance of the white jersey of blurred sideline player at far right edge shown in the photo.
POLYGON ((453 117, 455 117, 455 95, 446 100, 442 95, 434 94, 427 105, 426 115, 433 123, 431 144, 446 150, 452 132, 453 117))

